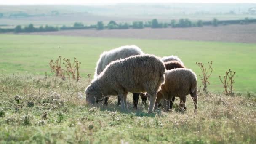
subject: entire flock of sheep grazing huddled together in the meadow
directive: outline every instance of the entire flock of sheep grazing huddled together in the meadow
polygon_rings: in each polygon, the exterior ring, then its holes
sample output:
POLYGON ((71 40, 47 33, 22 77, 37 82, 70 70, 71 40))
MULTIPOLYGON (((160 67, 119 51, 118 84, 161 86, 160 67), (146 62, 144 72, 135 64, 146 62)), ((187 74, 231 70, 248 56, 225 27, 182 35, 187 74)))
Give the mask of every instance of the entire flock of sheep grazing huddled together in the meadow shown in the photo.
POLYGON ((136 45, 126 45, 101 54, 94 79, 85 89, 86 101, 94 104, 117 96, 123 110, 128 109, 127 94, 133 93, 133 104, 137 108, 139 96, 142 103, 149 97, 148 113, 159 106, 172 108, 175 97, 179 107, 186 110, 186 96, 191 95, 197 111, 197 77, 186 69, 177 56, 144 54, 136 45))

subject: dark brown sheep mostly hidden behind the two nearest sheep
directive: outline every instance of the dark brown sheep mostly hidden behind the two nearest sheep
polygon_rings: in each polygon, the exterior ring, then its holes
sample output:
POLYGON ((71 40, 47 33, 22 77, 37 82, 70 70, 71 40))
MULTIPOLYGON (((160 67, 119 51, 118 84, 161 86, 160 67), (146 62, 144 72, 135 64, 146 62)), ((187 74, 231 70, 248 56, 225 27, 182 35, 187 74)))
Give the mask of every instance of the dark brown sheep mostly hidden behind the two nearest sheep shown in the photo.
MULTIPOLYGON (((168 61, 168 62, 164 62, 165 65, 165 69, 166 70, 171 70, 171 69, 176 69, 176 68, 185 68, 184 65, 182 65, 179 61, 168 61)), ((147 101, 147 93, 140 93, 141 99, 142 99, 142 103, 146 104, 147 101)), ((134 100, 134 99, 133 99, 134 100)), ((136 99, 135 99, 136 100, 136 99)), ((173 105, 173 102, 175 101, 175 97, 172 98, 172 100, 170 101, 170 108, 173 105)), ((138 103, 134 102, 134 103, 138 103)), ((160 105, 159 105, 160 106, 160 105)))

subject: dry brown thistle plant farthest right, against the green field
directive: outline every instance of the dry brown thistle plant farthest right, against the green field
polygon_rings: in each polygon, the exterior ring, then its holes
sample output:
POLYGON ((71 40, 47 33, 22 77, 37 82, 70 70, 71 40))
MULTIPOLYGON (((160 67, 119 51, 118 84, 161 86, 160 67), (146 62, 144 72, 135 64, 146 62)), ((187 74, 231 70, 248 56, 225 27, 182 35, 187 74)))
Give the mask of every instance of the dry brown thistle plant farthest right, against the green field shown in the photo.
POLYGON ((226 75, 223 76, 223 79, 221 79, 221 76, 219 76, 219 80, 221 81, 221 83, 224 86, 224 93, 228 96, 228 95, 233 95, 233 85, 235 83, 234 81, 234 75, 235 72, 232 72, 231 69, 229 69, 229 71, 226 71, 226 75))

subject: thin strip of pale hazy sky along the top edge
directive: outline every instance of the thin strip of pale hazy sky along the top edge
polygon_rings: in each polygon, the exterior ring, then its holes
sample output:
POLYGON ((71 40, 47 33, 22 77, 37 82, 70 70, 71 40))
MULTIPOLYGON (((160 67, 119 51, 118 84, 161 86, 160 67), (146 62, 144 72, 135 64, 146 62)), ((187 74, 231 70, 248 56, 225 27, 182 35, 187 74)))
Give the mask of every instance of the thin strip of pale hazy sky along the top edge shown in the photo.
POLYGON ((115 4, 115 3, 256 3, 256 0, 0 0, 0 5, 115 4))

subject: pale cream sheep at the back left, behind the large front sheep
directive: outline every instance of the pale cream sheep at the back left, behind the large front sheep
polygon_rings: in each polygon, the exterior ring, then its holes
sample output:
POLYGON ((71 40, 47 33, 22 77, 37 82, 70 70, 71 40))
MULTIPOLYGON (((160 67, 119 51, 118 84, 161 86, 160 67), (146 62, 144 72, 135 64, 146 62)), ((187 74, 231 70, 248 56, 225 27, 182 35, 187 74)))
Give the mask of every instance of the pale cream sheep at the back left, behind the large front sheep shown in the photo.
MULTIPOLYGON (((133 55, 141 55, 144 54, 141 49, 136 45, 125 45, 119 48, 112 49, 110 51, 104 51, 99 60, 97 61, 97 66, 94 73, 94 79, 96 79, 104 68, 112 61, 118 59, 124 59, 133 55)), ((120 105, 120 99, 117 97, 117 104, 120 105)), ((133 99, 139 98, 139 93, 133 93, 133 99)), ((108 104, 109 97, 105 98, 105 105, 108 104)), ((137 104, 134 103, 134 107, 137 109, 137 104)))

